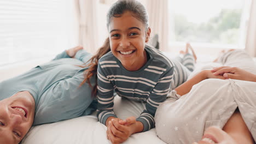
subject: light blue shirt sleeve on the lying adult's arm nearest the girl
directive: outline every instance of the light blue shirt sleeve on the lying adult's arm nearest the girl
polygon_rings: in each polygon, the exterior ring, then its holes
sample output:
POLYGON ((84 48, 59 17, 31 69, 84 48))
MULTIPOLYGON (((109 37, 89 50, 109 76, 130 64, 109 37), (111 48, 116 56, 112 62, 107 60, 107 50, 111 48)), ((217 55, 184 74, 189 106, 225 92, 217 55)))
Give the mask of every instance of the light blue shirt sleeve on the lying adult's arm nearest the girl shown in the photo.
MULTIPOLYGON (((73 77, 66 77, 46 89, 36 106, 33 125, 59 122, 84 115, 93 98, 92 88, 88 83, 79 87, 83 80, 83 71, 79 71, 73 77)), ((95 77, 90 81, 94 86, 95 77)))

